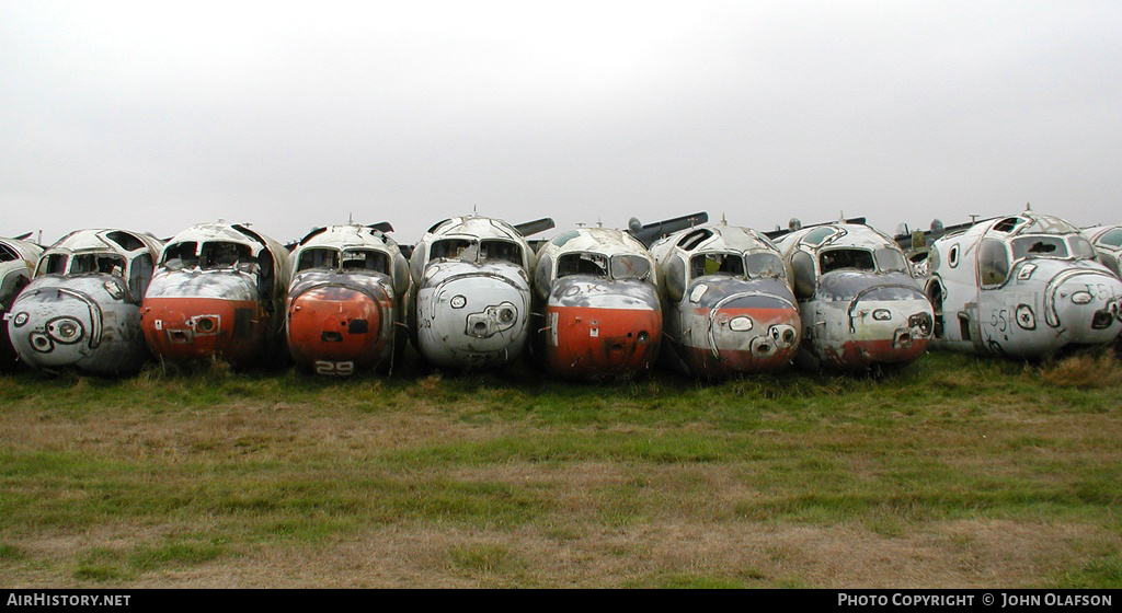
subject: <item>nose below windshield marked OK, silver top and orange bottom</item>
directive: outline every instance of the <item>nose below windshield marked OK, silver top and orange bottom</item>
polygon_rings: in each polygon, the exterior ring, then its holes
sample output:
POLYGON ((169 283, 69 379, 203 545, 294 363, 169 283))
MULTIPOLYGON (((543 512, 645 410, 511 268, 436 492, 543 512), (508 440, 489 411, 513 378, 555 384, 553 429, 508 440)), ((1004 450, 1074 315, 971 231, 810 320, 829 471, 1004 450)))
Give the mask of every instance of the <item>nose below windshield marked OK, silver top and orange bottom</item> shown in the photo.
POLYGON ((536 347, 551 374, 618 379, 653 365, 662 307, 653 284, 570 276, 553 282, 535 327, 536 347))

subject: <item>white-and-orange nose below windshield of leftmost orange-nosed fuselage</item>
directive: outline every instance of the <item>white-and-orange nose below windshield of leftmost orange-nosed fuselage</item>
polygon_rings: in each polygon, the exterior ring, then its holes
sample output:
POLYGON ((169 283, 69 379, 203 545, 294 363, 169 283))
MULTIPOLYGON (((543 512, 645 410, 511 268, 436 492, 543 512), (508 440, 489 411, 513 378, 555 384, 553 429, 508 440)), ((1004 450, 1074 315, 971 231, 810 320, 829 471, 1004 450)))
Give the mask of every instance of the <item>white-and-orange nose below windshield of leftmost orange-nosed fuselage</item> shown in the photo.
POLYGON ((162 271, 145 296, 141 327, 153 353, 171 360, 220 357, 252 364, 273 346, 273 314, 257 280, 231 270, 162 271))

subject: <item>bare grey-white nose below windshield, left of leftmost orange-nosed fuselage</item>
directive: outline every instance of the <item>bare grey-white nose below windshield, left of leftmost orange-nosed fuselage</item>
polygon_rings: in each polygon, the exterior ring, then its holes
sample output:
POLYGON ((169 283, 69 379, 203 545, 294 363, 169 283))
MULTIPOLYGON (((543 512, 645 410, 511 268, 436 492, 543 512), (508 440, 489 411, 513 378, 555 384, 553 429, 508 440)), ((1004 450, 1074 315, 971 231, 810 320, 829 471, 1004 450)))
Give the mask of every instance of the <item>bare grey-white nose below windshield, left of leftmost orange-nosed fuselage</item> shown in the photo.
POLYGON ((112 275, 45 276, 31 281, 7 322, 20 360, 57 371, 136 373, 149 359, 139 306, 112 275))

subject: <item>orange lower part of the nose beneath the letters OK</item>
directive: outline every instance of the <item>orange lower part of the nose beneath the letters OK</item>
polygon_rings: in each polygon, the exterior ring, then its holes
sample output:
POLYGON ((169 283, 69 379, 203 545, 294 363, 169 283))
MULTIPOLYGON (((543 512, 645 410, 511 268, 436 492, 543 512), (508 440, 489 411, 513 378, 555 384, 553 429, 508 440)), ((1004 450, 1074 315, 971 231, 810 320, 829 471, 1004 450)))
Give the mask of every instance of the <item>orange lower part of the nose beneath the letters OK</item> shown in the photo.
POLYGON ((645 371, 659 355, 662 312, 550 306, 546 368, 567 379, 613 379, 645 371))

